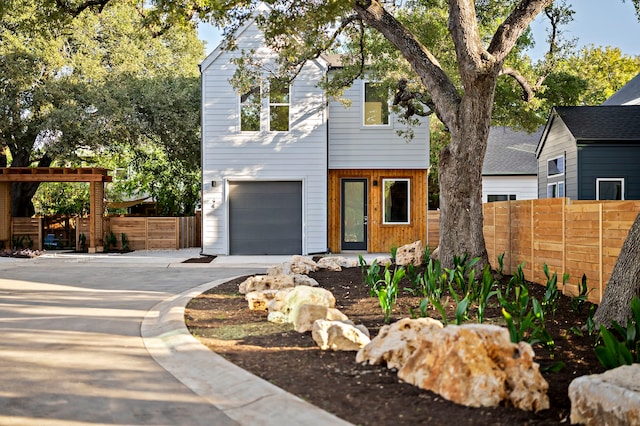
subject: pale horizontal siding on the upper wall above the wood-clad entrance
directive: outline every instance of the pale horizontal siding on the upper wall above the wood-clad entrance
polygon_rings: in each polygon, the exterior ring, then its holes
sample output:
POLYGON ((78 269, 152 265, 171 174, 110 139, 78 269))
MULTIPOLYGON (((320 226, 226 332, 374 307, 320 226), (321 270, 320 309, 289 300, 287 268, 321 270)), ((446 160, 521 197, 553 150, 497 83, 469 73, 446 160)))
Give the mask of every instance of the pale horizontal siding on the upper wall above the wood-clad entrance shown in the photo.
POLYGON ((356 80, 344 92, 350 106, 329 102, 329 169, 428 169, 429 118, 421 119, 410 141, 397 135, 404 126, 393 113, 389 126, 364 126, 363 91, 356 80))

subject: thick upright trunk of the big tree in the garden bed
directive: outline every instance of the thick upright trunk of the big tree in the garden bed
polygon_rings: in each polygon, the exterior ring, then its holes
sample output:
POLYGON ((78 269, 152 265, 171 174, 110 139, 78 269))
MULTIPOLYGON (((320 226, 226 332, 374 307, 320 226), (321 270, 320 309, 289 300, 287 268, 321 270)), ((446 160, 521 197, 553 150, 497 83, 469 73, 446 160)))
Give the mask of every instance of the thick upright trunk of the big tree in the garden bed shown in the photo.
POLYGON ((451 143, 440 153, 440 262, 454 256, 479 257, 488 263, 483 233, 482 163, 487 148, 495 78, 481 76, 467 87, 458 117, 450 126, 451 143))

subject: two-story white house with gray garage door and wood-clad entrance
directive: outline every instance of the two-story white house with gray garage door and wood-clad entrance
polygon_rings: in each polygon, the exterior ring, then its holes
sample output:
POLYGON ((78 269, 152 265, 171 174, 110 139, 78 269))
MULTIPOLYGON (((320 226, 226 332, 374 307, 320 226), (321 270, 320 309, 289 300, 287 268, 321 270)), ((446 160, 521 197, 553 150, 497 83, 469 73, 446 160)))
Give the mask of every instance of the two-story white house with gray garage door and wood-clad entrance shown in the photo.
POLYGON ((270 78, 275 55, 255 21, 235 42, 200 67, 203 253, 377 252, 424 240, 428 119, 407 143, 375 82, 345 91, 347 108, 317 86, 331 58, 308 61, 282 84, 270 78), (229 81, 243 50, 265 72, 239 94, 229 81))

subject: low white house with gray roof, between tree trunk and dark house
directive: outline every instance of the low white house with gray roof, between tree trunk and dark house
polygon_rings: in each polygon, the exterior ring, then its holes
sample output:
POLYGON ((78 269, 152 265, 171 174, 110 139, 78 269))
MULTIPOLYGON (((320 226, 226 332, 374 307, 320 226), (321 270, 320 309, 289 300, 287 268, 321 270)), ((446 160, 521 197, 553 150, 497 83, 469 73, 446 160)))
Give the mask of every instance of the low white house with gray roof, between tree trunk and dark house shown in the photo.
POLYGON ((482 166, 482 201, 538 198, 536 146, 542 135, 496 126, 489 130, 482 166))

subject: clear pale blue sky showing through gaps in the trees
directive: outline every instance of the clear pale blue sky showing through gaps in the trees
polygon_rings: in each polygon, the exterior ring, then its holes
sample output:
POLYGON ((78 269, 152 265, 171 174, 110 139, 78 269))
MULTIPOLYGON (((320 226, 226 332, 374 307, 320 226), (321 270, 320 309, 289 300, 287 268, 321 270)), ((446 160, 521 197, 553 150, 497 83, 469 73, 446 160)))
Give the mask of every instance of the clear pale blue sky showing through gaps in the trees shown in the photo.
MULTIPOLYGON (((631 0, 573 0, 573 21, 564 29, 567 38, 577 38, 577 46, 618 47, 623 54, 640 55, 640 22, 631 0)), ((532 25, 538 43, 531 51, 539 59, 545 49, 544 20, 541 16, 532 25)), ((207 42, 207 54, 220 42, 220 30, 206 24, 198 28, 200 38, 207 42)))

